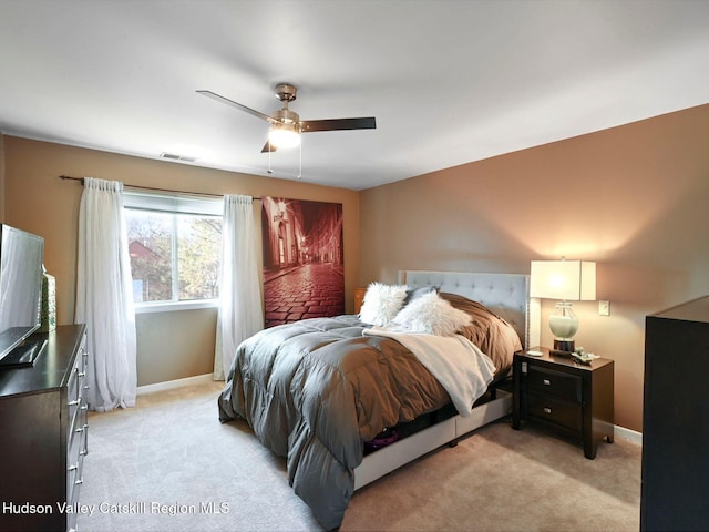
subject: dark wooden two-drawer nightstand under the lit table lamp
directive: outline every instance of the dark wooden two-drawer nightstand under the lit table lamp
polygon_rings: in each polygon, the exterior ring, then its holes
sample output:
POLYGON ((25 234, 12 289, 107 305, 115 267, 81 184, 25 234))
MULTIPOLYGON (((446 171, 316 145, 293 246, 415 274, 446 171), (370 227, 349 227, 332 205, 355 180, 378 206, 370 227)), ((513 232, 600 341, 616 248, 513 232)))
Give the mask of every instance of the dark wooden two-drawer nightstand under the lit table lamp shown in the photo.
POLYGON ((613 360, 596 358, 586 365, 554 357, 544 347, 531 350, 542 356, 514 355, 512 428, 520 430, 522 420, 543 423, 579 439, 584 456, 593 460, 600 440, 613 442, 613 360))

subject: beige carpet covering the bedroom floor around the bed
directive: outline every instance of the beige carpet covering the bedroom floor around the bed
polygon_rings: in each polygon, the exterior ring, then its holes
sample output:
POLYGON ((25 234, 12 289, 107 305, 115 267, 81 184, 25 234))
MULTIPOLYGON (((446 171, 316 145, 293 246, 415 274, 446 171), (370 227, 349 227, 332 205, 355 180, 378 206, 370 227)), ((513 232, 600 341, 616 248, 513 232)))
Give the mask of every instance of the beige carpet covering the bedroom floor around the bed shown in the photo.
MULTIPOLYGON (((320 530, 284 460, 243 422, 220 424, 220 383, 138 397, 91 415, 79 530, 320 530)), ((347 531, 637 531, 640 448, 574 442, 507 421, 358 491, 347 531)))

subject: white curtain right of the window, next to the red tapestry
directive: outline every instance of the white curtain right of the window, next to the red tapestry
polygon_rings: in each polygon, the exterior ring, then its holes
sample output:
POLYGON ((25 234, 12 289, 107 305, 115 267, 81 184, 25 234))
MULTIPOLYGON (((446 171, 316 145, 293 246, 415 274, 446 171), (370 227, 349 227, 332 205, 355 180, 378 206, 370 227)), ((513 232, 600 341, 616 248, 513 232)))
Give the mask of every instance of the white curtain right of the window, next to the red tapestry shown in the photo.
POLYGON ((264 328, 257 249, 253 198, 224 196, 215 380, 228 375, 238 345, 264 328))

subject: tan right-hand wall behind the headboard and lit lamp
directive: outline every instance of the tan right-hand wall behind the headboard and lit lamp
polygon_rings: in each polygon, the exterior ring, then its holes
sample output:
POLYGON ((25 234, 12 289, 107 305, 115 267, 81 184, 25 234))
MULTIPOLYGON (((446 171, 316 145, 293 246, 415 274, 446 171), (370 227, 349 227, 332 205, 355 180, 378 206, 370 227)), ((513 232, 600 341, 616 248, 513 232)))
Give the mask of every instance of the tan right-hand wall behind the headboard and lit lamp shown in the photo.
POLYGON ((610 316, 574 304, 577 345, 615 359, 616 423, 641 430, 645 316, 709 294, 707 139, 703 105, 363 191, 360 285, 596 260, 610 316))

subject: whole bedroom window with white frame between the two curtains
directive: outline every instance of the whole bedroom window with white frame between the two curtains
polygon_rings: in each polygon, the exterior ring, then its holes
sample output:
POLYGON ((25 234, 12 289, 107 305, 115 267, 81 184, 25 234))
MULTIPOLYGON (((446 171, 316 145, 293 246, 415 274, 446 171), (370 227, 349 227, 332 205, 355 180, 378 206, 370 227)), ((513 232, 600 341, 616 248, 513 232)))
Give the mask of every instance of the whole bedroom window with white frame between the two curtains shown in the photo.
POLYGON ((219 297, 219 200, 125 192, 123 206, 136 309, 219 297))

